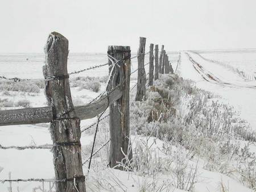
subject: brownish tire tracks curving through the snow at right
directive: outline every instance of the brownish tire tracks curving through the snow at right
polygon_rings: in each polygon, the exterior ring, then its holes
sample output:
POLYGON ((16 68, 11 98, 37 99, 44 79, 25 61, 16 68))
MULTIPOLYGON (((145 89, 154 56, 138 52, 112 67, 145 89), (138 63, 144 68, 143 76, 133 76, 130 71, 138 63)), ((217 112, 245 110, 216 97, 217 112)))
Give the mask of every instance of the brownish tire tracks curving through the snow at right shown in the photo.
POLYGON ((192 62, 193 68, 196 70, 197 73, 201 75, 201 77, 208 82, 211 82, 213 84, 221 85, 221 86, 229 86, 229 87, 245 87, 249 89, 256 89, 256 86, 250 86, 250 85, 236 85, 228 82, 221 81, 218 77, 214 76, 213 73, 209 72, 208 70, 205 70, 202 65, 200 65, 198 62, 193 60, 191 55, 189 55, 188 52, 185 52, 187 55, 189 61, 192 62))

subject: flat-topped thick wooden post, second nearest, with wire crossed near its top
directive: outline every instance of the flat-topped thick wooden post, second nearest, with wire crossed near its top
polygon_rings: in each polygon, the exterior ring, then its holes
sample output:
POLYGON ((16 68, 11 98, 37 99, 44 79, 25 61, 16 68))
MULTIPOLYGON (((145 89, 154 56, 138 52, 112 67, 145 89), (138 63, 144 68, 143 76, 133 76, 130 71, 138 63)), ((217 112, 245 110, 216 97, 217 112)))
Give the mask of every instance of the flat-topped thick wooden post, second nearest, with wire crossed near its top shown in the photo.
MULTIPOLYGON (((123 90, 122 97, 115 101, 113 105, 109 106, 110 118, 110 167, 118 165, 118 162, 127 163, 122 161, 125 156, 129 161, 133 158, 133 152, 130 145, 130 110, 129 110, 129 97, 130 97, 130 74, 131 74, 131 51, 129 46, 109 46, 108 55, 114 57, 118 62, 118 66, 113 69, 113 76, 111 77, 108 89, 111 90, 115 86, 121 86, 123 90), (123 151, 123 153, 122 153, 123 151)), ((109 65, 112 62, 109 60, 109 65)), ((113 67, 113 66, 112 66, 113 67)), ((109 72, 111 72, 110 67, 109 72)), ((129 166, 129 164, 127 164, 129 166)), ((123 170, 122 166, 115 168, 123 170)))

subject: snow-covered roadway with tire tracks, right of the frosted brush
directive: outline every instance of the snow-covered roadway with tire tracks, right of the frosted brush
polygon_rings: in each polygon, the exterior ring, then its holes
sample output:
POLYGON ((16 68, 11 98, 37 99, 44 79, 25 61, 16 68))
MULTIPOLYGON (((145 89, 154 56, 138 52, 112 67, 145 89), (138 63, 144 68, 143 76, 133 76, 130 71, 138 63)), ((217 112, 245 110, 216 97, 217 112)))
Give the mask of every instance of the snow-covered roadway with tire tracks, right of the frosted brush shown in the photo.
MULTIPOLYGON (((224 53, 222 54, 224 55, 224 53)), ((213 55, 216 55, 216 53, 213 55)), ((226 53, 226 55, 229 55, 229 53, 226 53)), ((234 53, 230 54, 230 65, 234 60, 233 55, 234 53)), ((245 62, 236 62, 234 65, 238 66, 238 63, 240 63, 240 68, 248 68, 248 65, 250 65, 251 71, 256 70, 255 64, 249 62, 249 64, 245 65, 245 62)), ((256 97, 256 81, 245 80, 233 70, 204 60, 196 53, 189 51, 181 52, 178 72, 181 77, 195 81, 197 87, 220 95, 222 101, 230 103, 237 111, 240 111, 241 118, 247 120, 251 124, 251 128, 256 130, 256 101, 254 99, 256 97), (193 63, 193 61, 195 62, 193 63)))

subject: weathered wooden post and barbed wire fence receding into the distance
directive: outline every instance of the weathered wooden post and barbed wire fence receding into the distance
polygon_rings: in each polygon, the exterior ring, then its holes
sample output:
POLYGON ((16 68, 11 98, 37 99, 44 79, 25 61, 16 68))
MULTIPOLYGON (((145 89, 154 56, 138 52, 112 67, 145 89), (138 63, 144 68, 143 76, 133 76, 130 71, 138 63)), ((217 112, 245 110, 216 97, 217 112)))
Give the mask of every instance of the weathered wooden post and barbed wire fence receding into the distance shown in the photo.
MULTIPOLYGON (((56 191, 85 191, 85 176, 82 172, 82 165, 85 162, 81 160, 81 132, 96 124, 95 142, 98 123, 107 116, 109 116, 110 128, 109 166, 110 168, 122 170, 122 166, 118 166, 117 162, 121 162, 125 157, 129 161, 133 158, 130 147, 130 75, 138 71, 138 82, 135 85, 137 86, 135 100, 142 101, 146 96, 145 66, 147 64, 144 64, 145 55, 149 54, 148 86, 152 86, 153 81, 158 80, 159 73, 174 73, 167 53, 164 50, 164 45, 162 45, 159 59, 158 45, 155 45, 154 49, 154 44, 150 44, 150 51, 148 53, 145 53, 145 45, 146 38, 140 37, 138 54, 134 57, 131 57, 131 50, 128 46, 109 46, 108 64, 84 69, 90 70, 109 65, 109 78, 105 91, 87 105, 74 107, 69 87, 69 75, 84 70, 68 73, 68 40, 63 35, 52 32, 47 39, 45 49, 46 65, 43 67, 45 94, 50 106, 2 110, 0 111, 0 126, 50 123, 53 144, 51 146, 26 147, 3 147, 0 145, 0 149, 52 148, 55 179, 2 180, 2 182, 55 181, 56 191), (131 72, 131 59, 135 58, 138 59, 138 69, 131 72), (101 118, 108 107, 109 115, 101 118), (84 130, 80 129, 80 120, 90 119, 95 116, 98 116, 96 123, 84 130)), ((20 81, 19 78, 10 78, 10 80, 20 81)), ((109 141, 104 145, 108 144, 109 141)), ((92 153, 88 161, 91 161, 92 156, 100 149, 94 152, 93 143, 92 153)))

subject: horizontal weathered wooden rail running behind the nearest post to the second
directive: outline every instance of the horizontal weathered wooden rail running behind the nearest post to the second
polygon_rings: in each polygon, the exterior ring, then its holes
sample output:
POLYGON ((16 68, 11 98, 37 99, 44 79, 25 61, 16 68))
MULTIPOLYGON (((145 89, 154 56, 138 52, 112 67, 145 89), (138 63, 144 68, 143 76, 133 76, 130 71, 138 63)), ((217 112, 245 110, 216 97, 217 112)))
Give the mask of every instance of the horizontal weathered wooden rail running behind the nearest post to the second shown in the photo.
MULTIPOLYGON (((122 89, 117 86, 109 93, 109 102, 113 104, 122 97, 122 89)), ((108 106, 106 95, 84 106, 76 106, 75 112, 80 119, 94 118, 108 106)), ((49 123, 53 120, 52 107, 21 108, 16 110, 0 111, 0 126, 18 124, 49 123)))

